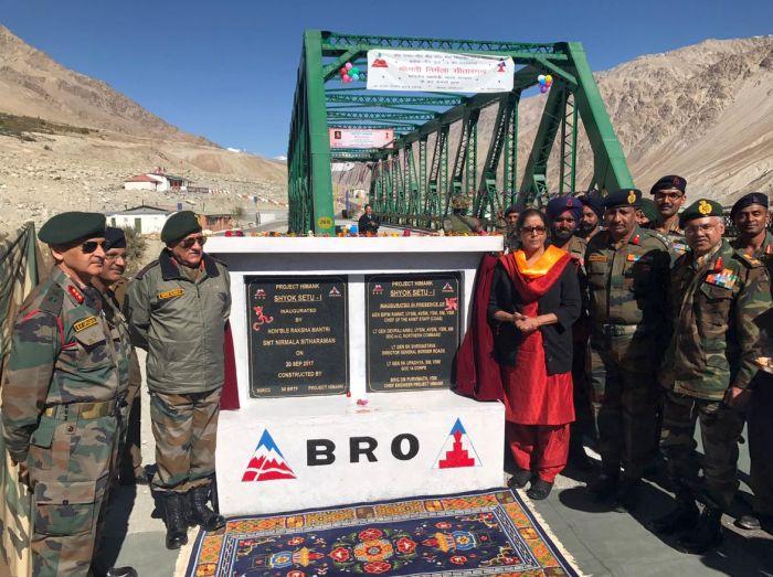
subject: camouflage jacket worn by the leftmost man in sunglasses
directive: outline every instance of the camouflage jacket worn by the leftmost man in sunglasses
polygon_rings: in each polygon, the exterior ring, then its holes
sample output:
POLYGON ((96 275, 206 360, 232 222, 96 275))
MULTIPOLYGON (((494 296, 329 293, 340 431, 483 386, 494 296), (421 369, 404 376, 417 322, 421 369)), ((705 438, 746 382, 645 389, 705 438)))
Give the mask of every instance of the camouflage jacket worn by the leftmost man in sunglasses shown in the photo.
POLYGON ((45 408, 112 400, 126 388, 120 339, 99 292, 59 267, 32 291, 13 327, 2 384, 3 435, 14 461, 27 459, 45 408))

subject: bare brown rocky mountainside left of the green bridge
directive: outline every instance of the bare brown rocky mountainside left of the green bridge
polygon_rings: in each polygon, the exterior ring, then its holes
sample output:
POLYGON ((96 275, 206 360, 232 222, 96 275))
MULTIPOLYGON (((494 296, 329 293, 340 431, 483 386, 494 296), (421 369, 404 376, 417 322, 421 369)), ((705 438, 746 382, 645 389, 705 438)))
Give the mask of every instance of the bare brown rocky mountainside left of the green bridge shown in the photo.
POLYGON ((91 207, 140 203, 247 214, 286 206, 283 162, 223 149, 150 114, 107 84, 65 68, 0 25, 0 227, 91 207), (125 191, 155 168, 214 194, 125 191))

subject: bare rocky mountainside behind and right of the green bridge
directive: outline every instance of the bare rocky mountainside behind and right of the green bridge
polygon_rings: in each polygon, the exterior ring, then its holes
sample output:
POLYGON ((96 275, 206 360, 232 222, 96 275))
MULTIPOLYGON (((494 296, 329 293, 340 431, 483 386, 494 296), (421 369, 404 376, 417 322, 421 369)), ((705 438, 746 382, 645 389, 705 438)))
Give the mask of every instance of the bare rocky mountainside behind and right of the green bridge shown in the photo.
MULTIPOLYGON (((772 192, 773 36, 708 40, 640 56, 597 73, 596 81, 634 182, 644 191, 659 177, 677 173, 687 178, 693 199, 731 204, 749 191, 772 192)), ((519 182, 544 101, 541 95, 523 98, 519 108, 519 182)), ((489 107, 480 117, 480 164, 495 116, 489 107)), ((452 151, 454 135, 458 129, 452 130, 452 151)), ((557 180, 557 150, 549 182, 557 180)), ((590 182, 591 163, 581 129, 578 189, 590 182)), ((340 188, 368 188, 367 170, 339 174, 340 188)))

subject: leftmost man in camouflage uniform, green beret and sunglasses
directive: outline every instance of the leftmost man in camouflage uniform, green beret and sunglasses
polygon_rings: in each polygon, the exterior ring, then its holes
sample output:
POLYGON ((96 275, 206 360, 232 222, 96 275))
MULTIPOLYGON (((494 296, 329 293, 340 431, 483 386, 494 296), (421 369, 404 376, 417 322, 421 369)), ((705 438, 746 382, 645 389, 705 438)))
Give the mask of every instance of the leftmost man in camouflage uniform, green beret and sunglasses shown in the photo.
POLYGON ((129 359, 91 284, 103 268, 104 236, 100 214, 63 213, 41 227, 55 266, 13 328, 3 436, 34 496, 35 576, 89 571, 113 473, 129 359))

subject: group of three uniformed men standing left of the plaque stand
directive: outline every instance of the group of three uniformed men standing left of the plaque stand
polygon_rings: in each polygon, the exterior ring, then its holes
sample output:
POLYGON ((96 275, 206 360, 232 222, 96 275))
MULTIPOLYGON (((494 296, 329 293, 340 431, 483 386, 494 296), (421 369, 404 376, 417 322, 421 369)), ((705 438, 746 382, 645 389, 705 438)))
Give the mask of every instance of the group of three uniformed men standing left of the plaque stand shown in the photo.
POLYGON ((126 236, 106 227, 104 215, 63 213, 38 236, 55 264, 17 317, 1 391, 6 446, 32 494, 32 571, 136 576, 131 567, 107 567, 98 554, 119 470, 124 483, 148 482, 135 346, 148 353, 151 485, 167 547, 186 544, 189 526, 225 524, 209 501, 230 277, 204 254, 190 211, 167 220, 166 247, 129 282, 126 236))

